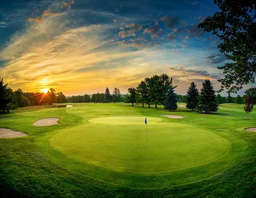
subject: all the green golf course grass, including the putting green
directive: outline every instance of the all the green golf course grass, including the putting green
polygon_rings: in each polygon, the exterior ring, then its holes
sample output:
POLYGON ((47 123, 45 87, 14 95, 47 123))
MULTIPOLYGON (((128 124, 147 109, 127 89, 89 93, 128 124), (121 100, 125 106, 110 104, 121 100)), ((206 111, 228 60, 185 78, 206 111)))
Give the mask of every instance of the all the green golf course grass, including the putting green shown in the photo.
POLYGON ((256 113, 220 105, 214 114, 179 107, 76 104, 0 115, 27 132, 0 139, 0 192, 24 197, 254 197, 256 113), (122 116, 122 117, 120 117, 122 116), (144 116, 148 120, 146 141, 144 116), (56 126, 32 126, 60 117, 56 126), (126 117, 126 118, 124 118, 126 117))

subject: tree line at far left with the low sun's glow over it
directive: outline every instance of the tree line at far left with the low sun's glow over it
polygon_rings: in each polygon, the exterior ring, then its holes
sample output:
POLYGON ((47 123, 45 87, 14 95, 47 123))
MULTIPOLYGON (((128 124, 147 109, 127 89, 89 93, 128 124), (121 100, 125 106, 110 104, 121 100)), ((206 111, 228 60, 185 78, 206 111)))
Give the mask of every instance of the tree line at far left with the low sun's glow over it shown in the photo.
POLYGON ((22 89, 13 91, 8 84, 4 84, 0 77, 0 112, 9 113, 24 106, 52 105, 53 103, 65 103, 66 97, 62 92, 56 93, 53 88, 44 94, 42 92, 23 92, 22 89))

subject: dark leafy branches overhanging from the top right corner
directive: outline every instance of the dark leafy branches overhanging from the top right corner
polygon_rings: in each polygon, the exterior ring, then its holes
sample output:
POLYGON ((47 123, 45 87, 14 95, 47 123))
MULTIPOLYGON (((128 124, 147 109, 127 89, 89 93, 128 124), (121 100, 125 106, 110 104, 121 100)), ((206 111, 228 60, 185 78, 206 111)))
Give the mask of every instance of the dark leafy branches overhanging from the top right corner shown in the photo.
POLYGON ((256 73, 256 1, 214 0, 220 11, 209 16, 199 28, 218 36, 218 48, 231 60, 218 67, 224 70, 221 90, 237 92, 242 85, 255 82, 256 73), (233 85, 235 84, 235 85, 233 85))

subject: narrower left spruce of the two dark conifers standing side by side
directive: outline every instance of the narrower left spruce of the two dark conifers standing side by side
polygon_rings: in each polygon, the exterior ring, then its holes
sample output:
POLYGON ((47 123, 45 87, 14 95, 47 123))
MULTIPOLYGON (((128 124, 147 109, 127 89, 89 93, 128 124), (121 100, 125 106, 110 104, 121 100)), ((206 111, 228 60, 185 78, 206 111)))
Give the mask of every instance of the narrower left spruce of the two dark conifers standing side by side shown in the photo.
POLYGON ((198 105, 198 88, 196 88, 196 84, 194 82, 191 82, 190 87, 188 88, 187 91, 187 103, 186 103, 186 108, 187 109, 196 109, 198 105))

